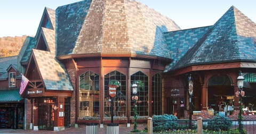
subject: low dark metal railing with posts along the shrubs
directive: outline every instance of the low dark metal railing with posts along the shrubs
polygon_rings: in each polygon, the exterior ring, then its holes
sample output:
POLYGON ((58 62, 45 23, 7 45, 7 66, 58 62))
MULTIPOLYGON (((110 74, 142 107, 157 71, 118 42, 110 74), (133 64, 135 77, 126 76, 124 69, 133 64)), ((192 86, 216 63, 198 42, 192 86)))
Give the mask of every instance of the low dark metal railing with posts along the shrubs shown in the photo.
MULTIPOLYGON (((256 134, 256 120, 243 120, 246 133, 256 134)), ((239 133, 238 120, 152 120, 148 118, 148 134, 152 133, 239 133), (159 131, 161 130, 161 131, 159 131)))

